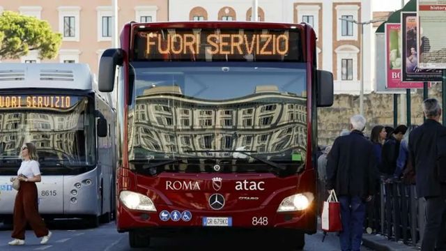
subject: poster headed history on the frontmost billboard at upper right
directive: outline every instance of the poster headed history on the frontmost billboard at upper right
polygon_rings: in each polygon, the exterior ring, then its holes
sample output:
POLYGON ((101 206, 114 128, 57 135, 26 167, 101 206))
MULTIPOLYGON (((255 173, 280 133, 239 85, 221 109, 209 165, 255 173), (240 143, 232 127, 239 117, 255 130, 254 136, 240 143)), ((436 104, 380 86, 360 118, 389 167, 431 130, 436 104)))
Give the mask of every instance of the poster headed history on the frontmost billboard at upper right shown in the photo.
POLYGON ((419 68, 446 69, 446 1, 418 0, 419 68))

